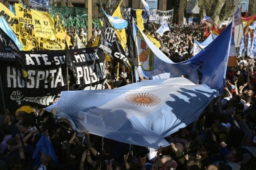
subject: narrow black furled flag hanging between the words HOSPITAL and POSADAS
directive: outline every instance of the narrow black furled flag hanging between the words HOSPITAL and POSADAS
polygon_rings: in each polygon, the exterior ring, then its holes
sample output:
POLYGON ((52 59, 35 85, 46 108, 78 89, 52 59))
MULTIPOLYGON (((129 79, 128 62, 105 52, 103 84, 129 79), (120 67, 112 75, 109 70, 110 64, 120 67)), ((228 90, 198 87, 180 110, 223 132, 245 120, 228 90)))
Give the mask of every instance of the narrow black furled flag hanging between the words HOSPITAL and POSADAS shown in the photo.
POLYGON ((71 60, 71 57, 70 57, 70 53, 69 53, 66 41, 65 41, 65 61, 66 61, 66 67, 70 71, 70 72, 68 72, 68 75, 70 75, 69 85, 73 85, 73 84, 76 83, 78 78, 77 78, 77 75, 76 75, 76 72, 75 72, 75 67, 72 64, 72 60, 71 60))

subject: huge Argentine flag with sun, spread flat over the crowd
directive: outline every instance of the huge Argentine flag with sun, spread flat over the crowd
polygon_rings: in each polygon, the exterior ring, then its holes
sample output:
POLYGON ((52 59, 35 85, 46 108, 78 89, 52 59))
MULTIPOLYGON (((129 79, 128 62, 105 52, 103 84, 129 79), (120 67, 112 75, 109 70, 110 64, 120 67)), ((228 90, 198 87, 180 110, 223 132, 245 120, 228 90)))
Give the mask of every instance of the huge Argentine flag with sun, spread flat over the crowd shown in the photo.
POLYGON ((216 94, 182 78, 146 80, 112 90, 63 91, 46 108, 67 114, 83 135, 87 130, 116 141, 159 148, 163 138, 192 123, 216 94))

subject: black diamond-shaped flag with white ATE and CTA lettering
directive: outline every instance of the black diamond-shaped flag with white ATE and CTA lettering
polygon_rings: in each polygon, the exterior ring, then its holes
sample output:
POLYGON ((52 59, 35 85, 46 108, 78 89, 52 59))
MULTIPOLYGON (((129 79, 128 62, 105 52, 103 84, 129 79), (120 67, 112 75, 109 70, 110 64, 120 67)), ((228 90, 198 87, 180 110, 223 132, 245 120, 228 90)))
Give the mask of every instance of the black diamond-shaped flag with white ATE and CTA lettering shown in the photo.
POLYGON ((105 17, 103 21, 103 27, 98 42, 98 49, 120 64, 130 67, 129 61, 124 52, 125 48, 122 48, 114 28, 110 24, 107 17, 105 17))

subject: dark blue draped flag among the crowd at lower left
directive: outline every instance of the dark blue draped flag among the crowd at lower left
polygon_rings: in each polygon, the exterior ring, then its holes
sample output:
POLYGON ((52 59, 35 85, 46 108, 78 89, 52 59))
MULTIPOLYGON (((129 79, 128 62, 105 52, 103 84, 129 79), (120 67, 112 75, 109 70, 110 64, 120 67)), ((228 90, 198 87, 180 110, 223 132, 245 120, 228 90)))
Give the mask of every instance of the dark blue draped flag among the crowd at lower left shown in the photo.
POLYGON ((45 132, 42 134, 40 140, 37 142, 37 144, 35 146, 36 146, 36 148, 32 155, 32 159, 35 158, 33 167, 35 167, 35 166, 39 167, 42 164, 40 161, 42 153, 44 155, 50 155, 52 157, 52 160, 58 164, 57 156, 54 152, 54 149, 53 149, 49 139, 45 136, 45 132))

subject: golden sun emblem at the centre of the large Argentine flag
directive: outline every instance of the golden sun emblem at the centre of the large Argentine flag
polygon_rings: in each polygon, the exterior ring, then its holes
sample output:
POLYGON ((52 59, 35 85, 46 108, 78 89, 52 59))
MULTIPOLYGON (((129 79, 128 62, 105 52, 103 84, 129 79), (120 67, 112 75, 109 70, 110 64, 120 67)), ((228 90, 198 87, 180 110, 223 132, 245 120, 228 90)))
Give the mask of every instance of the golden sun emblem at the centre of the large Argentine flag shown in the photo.
POLYGON ((143 105, 147 107, 156 106, 161 102, 161 99, 158 96, 149 93, 129 94, 128 96, 124 97, 124 100, 133 105, 143 105))

